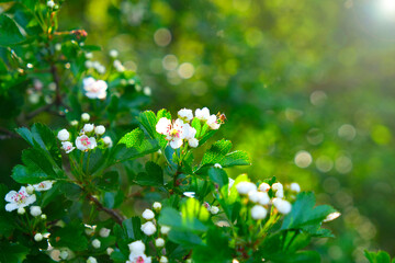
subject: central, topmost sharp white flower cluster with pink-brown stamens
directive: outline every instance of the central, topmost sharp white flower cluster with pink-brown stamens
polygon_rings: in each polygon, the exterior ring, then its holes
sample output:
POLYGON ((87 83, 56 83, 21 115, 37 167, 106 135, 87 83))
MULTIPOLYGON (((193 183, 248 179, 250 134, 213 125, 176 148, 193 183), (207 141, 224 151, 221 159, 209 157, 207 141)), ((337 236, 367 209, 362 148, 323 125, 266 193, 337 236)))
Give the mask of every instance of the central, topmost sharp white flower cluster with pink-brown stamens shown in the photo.
MULTIPOLYGON (((184 140, 190 147, 196 148, 199 146, 199 140, 195 138, 196 129, 190 124, 193 118, 192 110, 182 108, 178 112, 176 121, 167 117, 160 118, 156 125, 156 130, 158 134, 166 135, 166 139, 170 141, 170 147, 173 149, 180 148, 184 140)), ((221 119, 216 115, 210 115, 207 107, 198 108, 195 118, 206 123, 211 129, 218 129, 221 126, 221 119)))

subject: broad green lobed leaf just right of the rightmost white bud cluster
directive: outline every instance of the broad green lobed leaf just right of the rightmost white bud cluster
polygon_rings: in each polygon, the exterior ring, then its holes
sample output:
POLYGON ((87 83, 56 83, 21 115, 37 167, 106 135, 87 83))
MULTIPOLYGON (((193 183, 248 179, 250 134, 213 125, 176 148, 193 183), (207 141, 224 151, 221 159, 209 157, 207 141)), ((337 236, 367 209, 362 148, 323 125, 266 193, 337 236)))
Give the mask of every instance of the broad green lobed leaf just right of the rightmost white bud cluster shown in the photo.
POLYGON ((312 192, 300 193, 291 213, 285 216, 281 229, 304 229, 312 235, 316 233, 323 220, 336 210, 328 205, 314 206, 315 197, 312 192))

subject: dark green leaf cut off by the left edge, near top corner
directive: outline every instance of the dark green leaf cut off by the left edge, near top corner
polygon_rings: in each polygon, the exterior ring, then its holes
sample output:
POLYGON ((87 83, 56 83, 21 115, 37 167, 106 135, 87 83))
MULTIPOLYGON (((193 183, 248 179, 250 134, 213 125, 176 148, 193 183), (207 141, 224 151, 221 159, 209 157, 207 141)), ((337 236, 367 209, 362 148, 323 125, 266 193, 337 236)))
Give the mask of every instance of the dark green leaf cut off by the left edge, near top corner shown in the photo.
POLYGON ((12 46, 25 41, 16 23, 7 16, 0 14, 0 46, 12 46))

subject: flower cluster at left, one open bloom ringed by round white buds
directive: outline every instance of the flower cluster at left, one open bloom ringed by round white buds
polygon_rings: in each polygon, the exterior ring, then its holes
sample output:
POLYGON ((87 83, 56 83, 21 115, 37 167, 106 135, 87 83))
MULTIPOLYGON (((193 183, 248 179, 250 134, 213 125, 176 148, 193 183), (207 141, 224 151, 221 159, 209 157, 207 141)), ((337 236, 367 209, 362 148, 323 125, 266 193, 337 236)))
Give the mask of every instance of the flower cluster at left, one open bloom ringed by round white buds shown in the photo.
MULTIPOLYGON (((82 122, 89 122, 89 114, 83 113, 81 115, 81 119, 82 122)), ((71 125, 78 126, 78 122, 72 121, 71 125)), ((94 124, 86 123, 75 140, 76 147, 70 141, 71 136, 67 129, 59 130, 57 138, 61 141, 61 148, 65 150, 65 152, 70 153, 76 148, 81 151, 93 150, 98 146, 98 141, 100 139, 106 147, 112 147, 112 139, 109 136, 101 138, 104 133, 105 127, 103 125, 94 126, 94 124)))

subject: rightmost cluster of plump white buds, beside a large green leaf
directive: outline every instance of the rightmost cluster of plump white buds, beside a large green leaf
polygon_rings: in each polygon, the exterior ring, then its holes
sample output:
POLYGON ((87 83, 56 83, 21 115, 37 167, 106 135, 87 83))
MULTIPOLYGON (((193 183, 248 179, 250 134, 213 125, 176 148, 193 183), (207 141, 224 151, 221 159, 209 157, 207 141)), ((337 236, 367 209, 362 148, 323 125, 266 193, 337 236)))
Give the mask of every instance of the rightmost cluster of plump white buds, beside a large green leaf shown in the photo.
MULTIPOLYGON (((268 215, 268 208, 273 205, 275 209, 283 215, 291 211, 292 205, 289 201, 284 199, 284 187, 281 183, 274 183, 271 186, 268 183, 261 183, 258 187, 251 182, 239 182, 236 190, 240 195, 248 198, 248 202, 253 206, 250 210, 251 218, 255 220, 264 219, 268 215), (268 192, 272 190, 275 197, 270 198, 268 192)), ((291 191, 300 192, 301 187, 297 183, 291 184, 291 191)))

